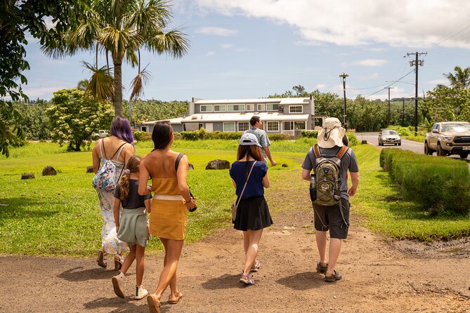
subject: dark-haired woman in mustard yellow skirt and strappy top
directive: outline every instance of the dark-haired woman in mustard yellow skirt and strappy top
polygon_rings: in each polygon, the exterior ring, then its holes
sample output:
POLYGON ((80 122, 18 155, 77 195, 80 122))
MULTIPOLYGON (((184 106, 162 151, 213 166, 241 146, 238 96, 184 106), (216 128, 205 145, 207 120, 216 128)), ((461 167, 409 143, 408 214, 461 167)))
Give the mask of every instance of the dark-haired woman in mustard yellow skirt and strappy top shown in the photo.
POLYGON ((173 130, 167 121, 155 123, 152 132, 154 149, 141 161, 138 193, 148 194, 148 177, 152 178, 150 234, 159 237, 165 248, 163 269, 157 291, 147 297, 150 312, 160 312, 160 298, 170 286, 168 302, 176 304, 183 297, 176 285, 176 269, 183 248, 188 210, 195 208, 188 183, 188 157, 171 150, 173 130))

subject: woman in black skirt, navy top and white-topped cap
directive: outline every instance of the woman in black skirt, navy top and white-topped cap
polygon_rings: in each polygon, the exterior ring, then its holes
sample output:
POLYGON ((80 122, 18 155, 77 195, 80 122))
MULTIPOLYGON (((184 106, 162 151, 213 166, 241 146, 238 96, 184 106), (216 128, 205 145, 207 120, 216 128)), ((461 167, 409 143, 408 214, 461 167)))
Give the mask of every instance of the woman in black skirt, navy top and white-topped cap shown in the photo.
POLYGON ((264 227, 273 224, 268 204, 264 199, 264 188, 269 187, 268 166, 263 162, 260 148, 256 135, 244 133, 238 143, 237 161, 233 162, 230 168, 237 200, 240 200, 233 227, 243 232, 246 258, 240 282, 245 285, 254 284, 250 272, 258 272, 260 266, 256 255, 261 234, 264 227), (244 188, 245 182, 247 186, 244 188))

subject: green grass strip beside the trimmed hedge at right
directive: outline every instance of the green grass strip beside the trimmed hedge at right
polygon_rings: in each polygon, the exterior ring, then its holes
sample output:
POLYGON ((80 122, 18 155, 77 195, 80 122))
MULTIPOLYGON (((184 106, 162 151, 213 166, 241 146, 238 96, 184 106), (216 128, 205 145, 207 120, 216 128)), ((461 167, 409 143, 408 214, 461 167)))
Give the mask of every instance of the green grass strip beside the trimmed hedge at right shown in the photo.
POLYGON ((398 239, 420 241, 470 235, 470 215, 430 216, 417 204, 403 200, 389 174, 379 166, 377 148, 360 145, 354 151, 360 166, 360 185, 352 200, 353 213, 365 217, 366 227, 398 239))

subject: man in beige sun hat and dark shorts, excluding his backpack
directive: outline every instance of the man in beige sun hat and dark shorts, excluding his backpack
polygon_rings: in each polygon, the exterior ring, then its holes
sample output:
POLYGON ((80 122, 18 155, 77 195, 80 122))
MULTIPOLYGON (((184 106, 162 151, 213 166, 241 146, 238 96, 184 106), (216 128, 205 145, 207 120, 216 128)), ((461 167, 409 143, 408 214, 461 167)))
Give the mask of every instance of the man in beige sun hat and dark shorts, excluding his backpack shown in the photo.
MULTIPOLYGON (((318 133, 318 147, 320 155, 327 159, 338 157, 340 151, 344 154, 339 156, 339 193, 341 197, 338 204, 333 206, 313 205, 315 222, 315 239, 317 241, 320 261, 317 263, 317 271, 325 273, 325 281, 333 282, 341 279, 341 273, 334 267, 337 264, 339 252, 341 251, 341 239, 348 236, 349 227, 349 196, 354 196, 359 185, 358 161, 352 149, 341 149, 343 136, 346 130, 341 127, 339 119, 329 117, 325 119, 322 130, 318 133), (351 173, 352 186, 348 190, 346 173, 351 173), (329 230, 329 257, 327 259, 327 231, 329 230)), ((315 147, 315 146, 314 146, 315 147)), ((302 179, 311 181, 311 171, 318 165, 318 156, 315 156, 315 149, 308 150, 302 164, 302 179)), ((318 155, 318 152, 317 152, 318 155)))

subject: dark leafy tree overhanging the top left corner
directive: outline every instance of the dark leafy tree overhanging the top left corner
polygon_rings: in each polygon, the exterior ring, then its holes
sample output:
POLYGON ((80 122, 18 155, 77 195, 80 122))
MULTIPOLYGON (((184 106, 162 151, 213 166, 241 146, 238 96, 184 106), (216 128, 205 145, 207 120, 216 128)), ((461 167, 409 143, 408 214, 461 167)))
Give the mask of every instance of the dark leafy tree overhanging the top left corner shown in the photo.
POLYGON ((0 151, 9 155, 8 145, 24 135, 20 112, 13 101, 27 100, 22 85, 27 84, 23 72, 30 69, 25 60, 25 32, 41 39, 41 44, 61 42, 61 33, 77 22, 77 14, 86 11, 82 0, 4 0, 0 2, 0 151), (51 18, 55 27, 46 27, 51 18))

